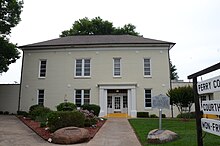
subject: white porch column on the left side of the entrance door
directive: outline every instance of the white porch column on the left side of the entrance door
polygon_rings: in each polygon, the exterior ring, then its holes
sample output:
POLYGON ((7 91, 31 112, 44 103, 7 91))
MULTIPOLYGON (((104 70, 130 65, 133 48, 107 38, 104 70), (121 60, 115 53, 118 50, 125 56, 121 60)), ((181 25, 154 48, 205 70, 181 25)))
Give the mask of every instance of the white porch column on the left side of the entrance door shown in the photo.
POLYGON ((99 89, 99 106, 100 106, 100 117, 107 115, 107 90, 99 89))

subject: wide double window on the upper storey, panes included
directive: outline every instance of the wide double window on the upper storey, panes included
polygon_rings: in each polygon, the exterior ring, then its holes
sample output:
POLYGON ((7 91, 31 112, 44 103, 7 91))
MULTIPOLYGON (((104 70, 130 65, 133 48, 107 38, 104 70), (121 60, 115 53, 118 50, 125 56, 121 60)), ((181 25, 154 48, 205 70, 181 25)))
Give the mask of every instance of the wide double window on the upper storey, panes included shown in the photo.
POLYGON ((76 77, 90 77, 90 59, 76 59, 76 77))

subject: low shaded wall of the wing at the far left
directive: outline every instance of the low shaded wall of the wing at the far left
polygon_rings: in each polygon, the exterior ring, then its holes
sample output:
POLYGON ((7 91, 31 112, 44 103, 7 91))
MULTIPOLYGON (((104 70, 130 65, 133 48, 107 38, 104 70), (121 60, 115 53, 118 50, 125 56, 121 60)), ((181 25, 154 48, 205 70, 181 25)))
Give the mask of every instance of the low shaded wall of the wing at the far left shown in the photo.
POLYGON ((0 111, 8 111, 16 114, 18 110, 19 97, 18 84, 1 84, 0 85, 0 111))

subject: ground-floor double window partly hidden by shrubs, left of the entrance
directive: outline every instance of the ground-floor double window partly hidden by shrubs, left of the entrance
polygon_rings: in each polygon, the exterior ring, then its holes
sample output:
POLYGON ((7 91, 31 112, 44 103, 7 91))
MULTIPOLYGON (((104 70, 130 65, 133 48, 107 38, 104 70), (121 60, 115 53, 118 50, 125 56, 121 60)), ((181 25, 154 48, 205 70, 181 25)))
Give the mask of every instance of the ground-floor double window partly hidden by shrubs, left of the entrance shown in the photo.
POLYGON ((90 104, 90 90, 75 90, 75 104, 77 107, 90 104))

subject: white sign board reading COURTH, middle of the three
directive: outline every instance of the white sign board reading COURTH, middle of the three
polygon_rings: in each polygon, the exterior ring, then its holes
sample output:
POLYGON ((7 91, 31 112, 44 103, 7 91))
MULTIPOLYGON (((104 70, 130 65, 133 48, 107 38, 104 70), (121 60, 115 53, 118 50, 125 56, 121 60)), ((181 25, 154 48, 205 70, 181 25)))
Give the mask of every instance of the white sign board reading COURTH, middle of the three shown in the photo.
POLYGON ((204 114, 220 115, 220 100, 202 101, 201 109, 204 114))

